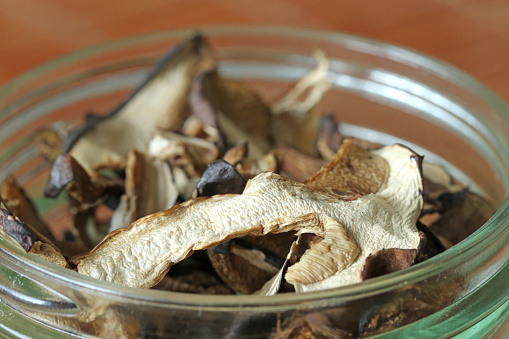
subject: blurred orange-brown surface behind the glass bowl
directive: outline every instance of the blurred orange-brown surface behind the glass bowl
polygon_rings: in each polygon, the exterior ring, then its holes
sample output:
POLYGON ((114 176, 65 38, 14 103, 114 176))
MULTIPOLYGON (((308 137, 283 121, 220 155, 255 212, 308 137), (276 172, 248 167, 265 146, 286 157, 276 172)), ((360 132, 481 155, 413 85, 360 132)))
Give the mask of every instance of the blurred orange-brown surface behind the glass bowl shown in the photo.
MULTIPOLYGON (((0 0, 0 85, 53 58, 121 37, 208 25, 283 25, 426 53, 509 102, 508 15, 507 0, 0 0)), ((504 327, 509 331, 508 322, 504 327)))

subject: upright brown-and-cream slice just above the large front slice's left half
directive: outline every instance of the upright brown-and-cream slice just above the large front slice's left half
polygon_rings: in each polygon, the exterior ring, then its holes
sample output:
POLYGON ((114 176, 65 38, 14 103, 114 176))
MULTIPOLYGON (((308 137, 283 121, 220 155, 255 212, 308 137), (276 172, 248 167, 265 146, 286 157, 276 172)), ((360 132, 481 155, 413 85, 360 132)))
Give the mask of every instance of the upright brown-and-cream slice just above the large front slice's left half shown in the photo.
POLYGON ((133 150, 127 158, 125 194, 111 218, 110 232, 175 205, 179 192, 170 165, 133 150))

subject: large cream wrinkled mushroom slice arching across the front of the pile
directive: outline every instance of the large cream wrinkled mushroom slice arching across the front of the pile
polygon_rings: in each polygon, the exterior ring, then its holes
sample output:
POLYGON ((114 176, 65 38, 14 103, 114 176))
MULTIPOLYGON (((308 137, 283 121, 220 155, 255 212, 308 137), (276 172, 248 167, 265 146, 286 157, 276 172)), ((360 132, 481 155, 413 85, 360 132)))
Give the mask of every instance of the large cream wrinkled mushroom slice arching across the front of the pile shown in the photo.
POLYGON ((245 235, 311 232, 323 244, 308 249, 289 268, 296 291, 360 282, 370 254, 383 248, 415 249, 420 240, 420 158, 401 145, 370 152, 388 167, 374 193, 344 200, 334 192, 262 173, 248 181, 242 194, 195 198, 146 216, 70 261, 82 274, 149 288, 193 251, 245 235))

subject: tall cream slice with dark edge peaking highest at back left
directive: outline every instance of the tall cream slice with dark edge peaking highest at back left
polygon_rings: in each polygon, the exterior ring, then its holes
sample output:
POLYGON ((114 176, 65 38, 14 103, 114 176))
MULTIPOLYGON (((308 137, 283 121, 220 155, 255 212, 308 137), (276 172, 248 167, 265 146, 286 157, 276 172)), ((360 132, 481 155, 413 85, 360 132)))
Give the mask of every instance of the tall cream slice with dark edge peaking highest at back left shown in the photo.
POLYGON ((163 57, 147 79, 112 113, 92 117, 66 139, 64 151, 92 172, 125 166, 128 153, 146 150, 158 128, 178 130, 188 116, 188 92, 199 72, 214 67, 197 35, 163 57))

